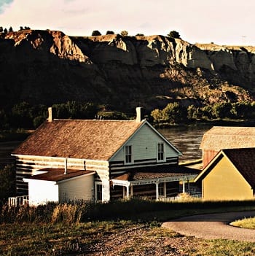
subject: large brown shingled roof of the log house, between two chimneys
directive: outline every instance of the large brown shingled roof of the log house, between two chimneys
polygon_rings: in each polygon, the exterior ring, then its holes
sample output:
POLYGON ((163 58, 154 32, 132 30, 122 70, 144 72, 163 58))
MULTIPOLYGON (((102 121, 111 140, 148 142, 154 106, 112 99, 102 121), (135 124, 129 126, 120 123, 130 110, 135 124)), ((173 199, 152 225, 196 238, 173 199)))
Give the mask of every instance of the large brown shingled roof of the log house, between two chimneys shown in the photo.
POLYGON ((144 122, 133 120, 44 122, 12 154, 109 160, 144 122))

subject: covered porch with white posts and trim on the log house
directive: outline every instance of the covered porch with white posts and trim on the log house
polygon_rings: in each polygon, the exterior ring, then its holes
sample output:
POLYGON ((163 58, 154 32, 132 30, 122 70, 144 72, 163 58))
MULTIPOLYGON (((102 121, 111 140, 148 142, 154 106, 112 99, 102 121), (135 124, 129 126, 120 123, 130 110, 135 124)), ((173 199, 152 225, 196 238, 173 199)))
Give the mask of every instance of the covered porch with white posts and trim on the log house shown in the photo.
POLYGON ((200 198, 200 190, 192 185, 197 173, 184 173, 187 169, 178 168, 175 172, 130 172, 111 179, 111 198, 147 198, 156 201, 178 200, 178 194, 188 193, 200 198), (182 171, 182 172, 181 172, 182 171))

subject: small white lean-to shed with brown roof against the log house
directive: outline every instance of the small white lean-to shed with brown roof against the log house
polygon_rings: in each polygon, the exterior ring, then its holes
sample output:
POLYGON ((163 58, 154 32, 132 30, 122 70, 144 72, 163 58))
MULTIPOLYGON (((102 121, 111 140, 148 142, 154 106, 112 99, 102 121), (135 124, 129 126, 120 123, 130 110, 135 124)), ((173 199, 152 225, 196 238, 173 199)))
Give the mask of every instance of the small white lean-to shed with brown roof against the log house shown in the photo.
POLYGON ((30 205, 94 200, 94 171, 65 172, 63 168, 45 168, 39 171, 40 174, 23 179, 28 182, 30 205))

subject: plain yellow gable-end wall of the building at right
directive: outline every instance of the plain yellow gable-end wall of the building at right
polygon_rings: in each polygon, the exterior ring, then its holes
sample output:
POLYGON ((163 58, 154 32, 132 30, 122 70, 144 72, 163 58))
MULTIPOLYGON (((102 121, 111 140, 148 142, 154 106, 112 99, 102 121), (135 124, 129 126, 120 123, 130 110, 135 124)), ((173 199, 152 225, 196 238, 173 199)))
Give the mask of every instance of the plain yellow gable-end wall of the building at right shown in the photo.
POLYGON ((253 190, 224 156, 203 179, 203 198, 205 200, 251 199, 253 190))

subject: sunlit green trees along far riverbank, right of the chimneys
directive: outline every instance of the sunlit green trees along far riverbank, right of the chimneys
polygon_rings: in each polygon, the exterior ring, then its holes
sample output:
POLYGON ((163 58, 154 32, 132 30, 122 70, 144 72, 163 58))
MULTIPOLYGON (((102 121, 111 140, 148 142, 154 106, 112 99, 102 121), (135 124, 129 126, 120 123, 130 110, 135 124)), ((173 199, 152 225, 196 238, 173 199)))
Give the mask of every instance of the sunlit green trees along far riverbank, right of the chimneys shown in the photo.
POLYGON ((251 120, 255 117, 255 102, 219 102, 206 106, 182 106, 169 103, 164 109, 151 112, 153 123, 192 123, 197 120, 251 120))

